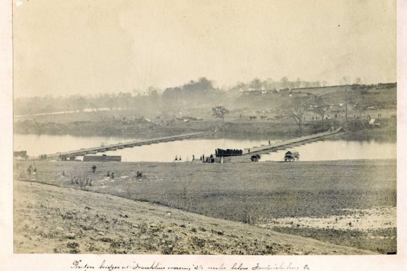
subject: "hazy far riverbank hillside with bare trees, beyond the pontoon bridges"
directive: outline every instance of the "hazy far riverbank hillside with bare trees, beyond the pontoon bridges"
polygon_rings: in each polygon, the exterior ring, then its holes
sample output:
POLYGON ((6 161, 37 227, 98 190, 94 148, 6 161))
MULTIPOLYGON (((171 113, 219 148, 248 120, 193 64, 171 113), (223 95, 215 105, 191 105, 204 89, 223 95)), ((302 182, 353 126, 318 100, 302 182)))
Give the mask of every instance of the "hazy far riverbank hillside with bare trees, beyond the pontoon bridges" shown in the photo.
POLYGON ((396 134, 396 83, 279 90, 260 85, 259 88, 219 90, 201 78, 163 93, 151 90, 149 95, 118 93, 17 99, 14 131, 151 138, 196 131, 293 135, 343 126, 347 131, 361 131, 363 136, 396 134), (228 112, 215 116, 213 108, 217 106, 225 107, 228 112), (303 107, 301 126, 289 114, 297 106, 303 107), (374 131, 368 124, 372 118, 380 119, 381 124, 374 126, 374 131))

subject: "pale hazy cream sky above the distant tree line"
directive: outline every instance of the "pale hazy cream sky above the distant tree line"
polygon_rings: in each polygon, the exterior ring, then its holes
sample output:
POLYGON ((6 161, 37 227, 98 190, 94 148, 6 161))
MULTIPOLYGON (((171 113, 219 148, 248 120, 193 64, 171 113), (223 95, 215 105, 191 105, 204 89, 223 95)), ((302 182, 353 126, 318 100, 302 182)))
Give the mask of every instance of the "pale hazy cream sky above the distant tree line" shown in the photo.
POLYGON ((203 76, 396 81, 395 0, 20 0, 13 37, 16 97, 203 76))

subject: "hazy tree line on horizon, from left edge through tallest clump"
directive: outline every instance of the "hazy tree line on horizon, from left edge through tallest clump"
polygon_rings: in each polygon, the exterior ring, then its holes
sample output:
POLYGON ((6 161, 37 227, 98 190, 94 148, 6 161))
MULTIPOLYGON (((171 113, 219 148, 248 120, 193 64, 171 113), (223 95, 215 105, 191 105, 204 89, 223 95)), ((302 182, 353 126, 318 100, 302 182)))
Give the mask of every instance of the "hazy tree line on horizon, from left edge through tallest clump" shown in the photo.
POLYGON ((69 97, 17 98, 15 100, 14 114, 42 114, 51 112, 83 112, 84 110, 97 111, 99 109, 134 108, 151 112, 159 111, 165 107, 195 106, 216 99, 219 91, 207 78, 191 80, 176 88, 149 87, 145 92, 134 90, 131 92, 103 93, 99 95, 70 95, 69 97))

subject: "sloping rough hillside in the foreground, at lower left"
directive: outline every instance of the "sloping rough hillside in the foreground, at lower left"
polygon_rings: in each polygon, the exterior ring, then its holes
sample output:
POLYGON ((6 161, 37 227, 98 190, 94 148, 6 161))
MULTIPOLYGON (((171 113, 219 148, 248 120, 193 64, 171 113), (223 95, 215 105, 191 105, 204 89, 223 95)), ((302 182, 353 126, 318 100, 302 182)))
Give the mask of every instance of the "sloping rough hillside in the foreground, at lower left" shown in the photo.
POLYGON ((113 195, 15 181, 15 253, 372 254, 113 195))

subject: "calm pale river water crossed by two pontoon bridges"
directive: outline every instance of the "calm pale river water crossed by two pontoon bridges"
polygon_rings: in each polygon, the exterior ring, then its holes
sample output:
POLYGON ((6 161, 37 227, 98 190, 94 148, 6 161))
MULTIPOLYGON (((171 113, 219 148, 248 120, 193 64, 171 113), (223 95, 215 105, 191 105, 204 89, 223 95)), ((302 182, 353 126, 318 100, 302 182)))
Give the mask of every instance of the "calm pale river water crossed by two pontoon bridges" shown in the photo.
MULTIPOLYGON (((96 147, 102 144, 124 143, 141 138, 120 137, 78 137, 72 135, 14 135, 14 150, 27 150, 31 157, 55 152, 96 147)), ((270 140, 274 143, 278 140, 270 140)), ((269 144, 268 139, 189 139, 167 143, 143 145, 104 152, 106 155, 122 155, 125 162, 171 162, 175 156, 182 160, 197 159, 201 155, 211 155, 216 148, 244 149, 269 144)), ((300 152, 301 161, 322 161, 337 159, 396 159, 396 143, 370 141, 326 140, 295 147, 300 152)), ((287 150, 261 155, 261 161, 281 161, 287 150)), ((100 154, 99 154, 100 155, 100 154)), ((80 157, 79 157, 80 158, 80 157)))

